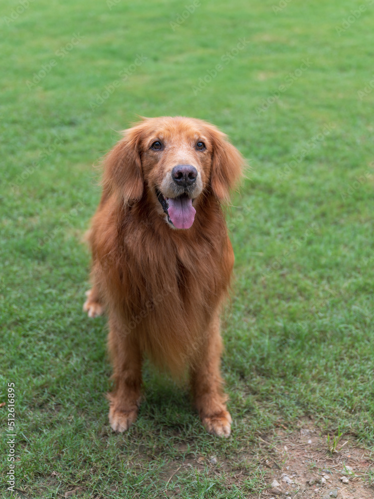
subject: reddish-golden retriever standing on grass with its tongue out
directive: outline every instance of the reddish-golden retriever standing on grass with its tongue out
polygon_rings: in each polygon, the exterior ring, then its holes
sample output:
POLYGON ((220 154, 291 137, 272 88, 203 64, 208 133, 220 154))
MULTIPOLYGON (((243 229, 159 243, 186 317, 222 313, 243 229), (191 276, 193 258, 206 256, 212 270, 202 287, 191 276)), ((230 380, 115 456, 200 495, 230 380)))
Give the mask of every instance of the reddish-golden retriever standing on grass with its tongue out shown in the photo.
POLYGON ((188 373, 206 430, 230 434, 219 316, 234 255, 222 205, 243 166, 222 132, 185 117, 143 118, 104 159, 84 310, 108 314, 116 432, 137 418, 147 355, 177 378, 188 373))

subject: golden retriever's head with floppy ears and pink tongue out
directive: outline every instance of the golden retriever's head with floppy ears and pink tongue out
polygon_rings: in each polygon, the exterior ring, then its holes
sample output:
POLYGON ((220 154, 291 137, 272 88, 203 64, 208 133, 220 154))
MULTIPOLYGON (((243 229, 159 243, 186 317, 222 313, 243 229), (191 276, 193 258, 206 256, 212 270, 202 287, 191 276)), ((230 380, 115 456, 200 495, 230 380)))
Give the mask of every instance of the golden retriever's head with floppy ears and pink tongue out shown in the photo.
POLYGON ((109 152, 103 188, 131 204, 147 195, 171 227, 189 229, 204 192, 228 201, 242 165, 240 153, 214 126, 192 118, 150 118, 125 130, 109 152))

